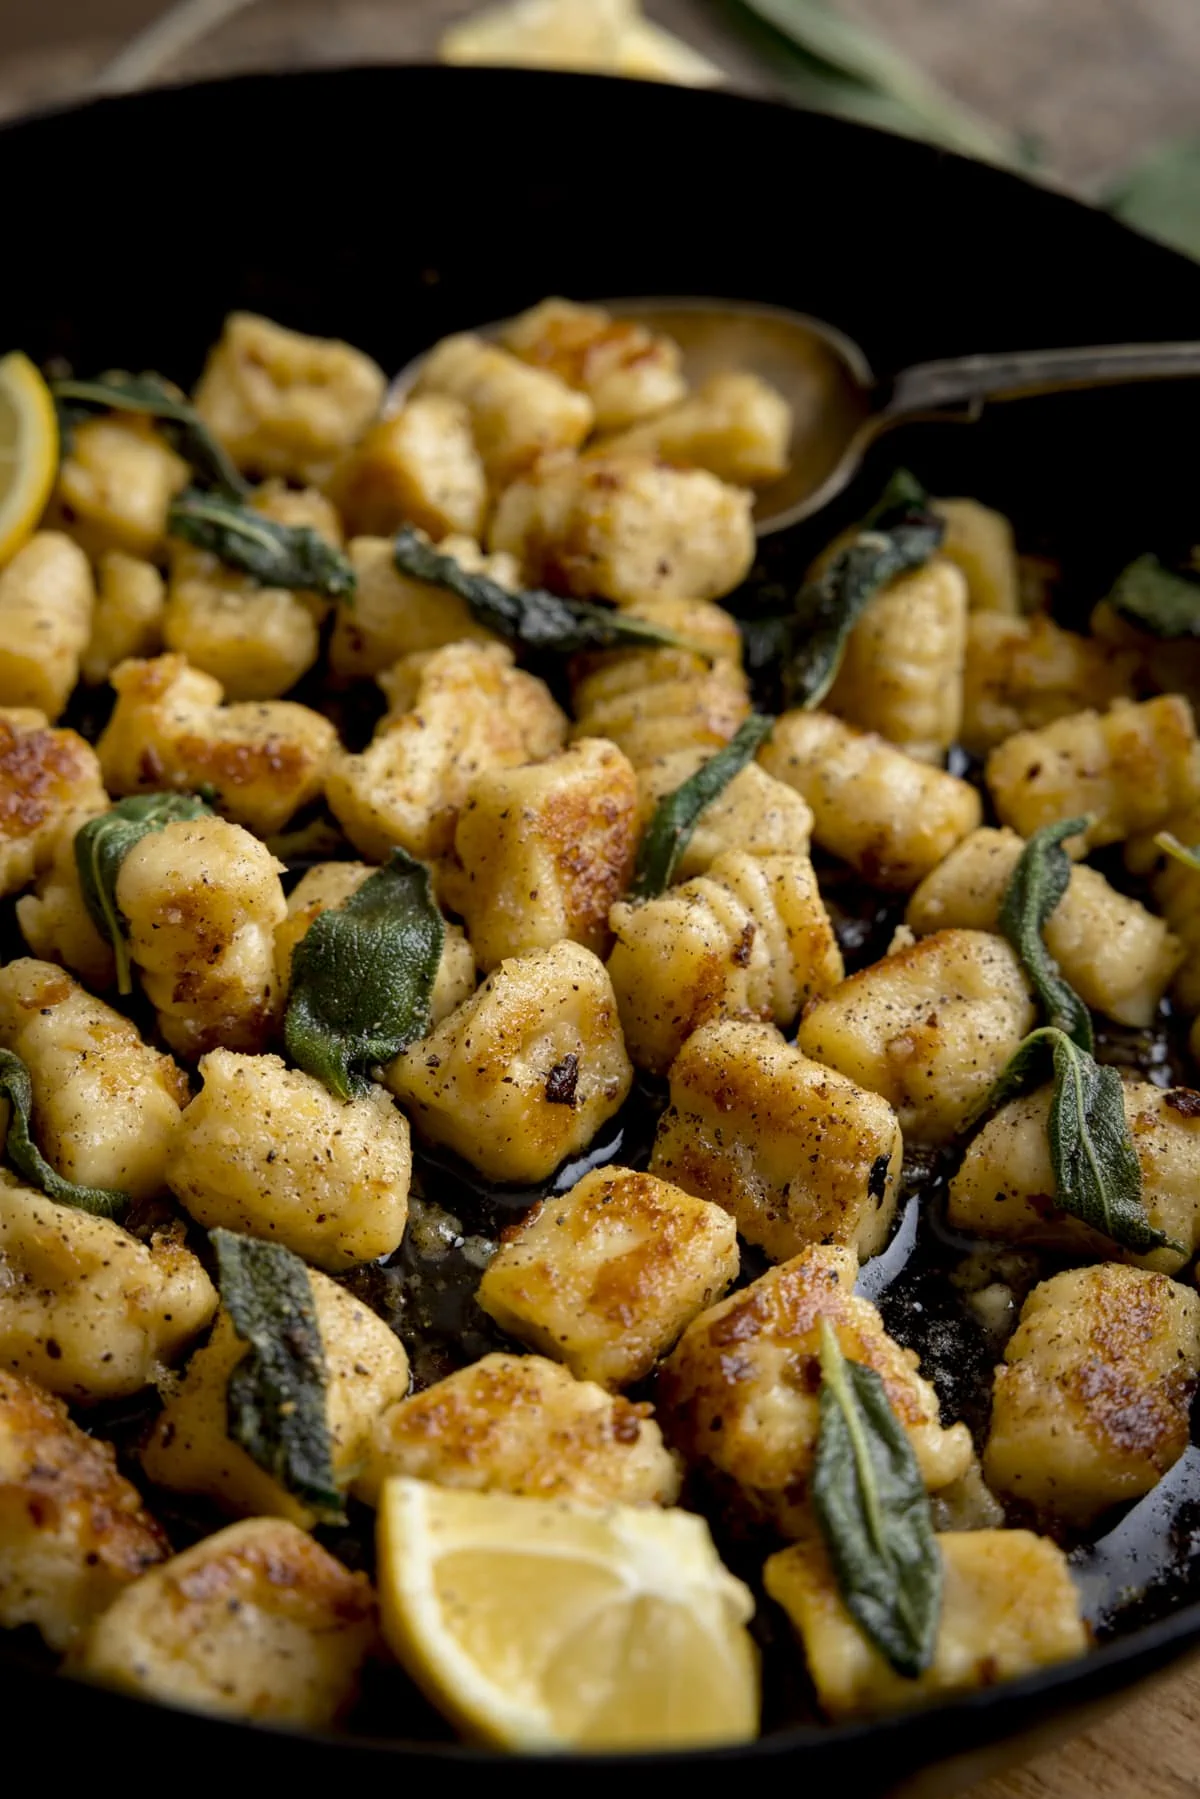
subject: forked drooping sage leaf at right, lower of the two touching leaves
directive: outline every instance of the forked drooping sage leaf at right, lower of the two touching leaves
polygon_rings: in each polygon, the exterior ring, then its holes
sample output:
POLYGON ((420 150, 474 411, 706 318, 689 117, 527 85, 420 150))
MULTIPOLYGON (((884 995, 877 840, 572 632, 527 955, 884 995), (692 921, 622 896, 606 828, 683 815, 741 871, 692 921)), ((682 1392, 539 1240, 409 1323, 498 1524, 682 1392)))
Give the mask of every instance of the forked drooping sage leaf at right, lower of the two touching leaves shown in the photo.
POLYGON ((986 1110, 993 1112, 1040 1079, 1047 1049, 1054 1076, 1045 1126, 1054 1204, 1139 1256, 1182 1249, 1146 1216, 1121 1076, 1101 1067, 1065 1031, 1056 1025, 1031 1031, 991 1088, 986 1110))

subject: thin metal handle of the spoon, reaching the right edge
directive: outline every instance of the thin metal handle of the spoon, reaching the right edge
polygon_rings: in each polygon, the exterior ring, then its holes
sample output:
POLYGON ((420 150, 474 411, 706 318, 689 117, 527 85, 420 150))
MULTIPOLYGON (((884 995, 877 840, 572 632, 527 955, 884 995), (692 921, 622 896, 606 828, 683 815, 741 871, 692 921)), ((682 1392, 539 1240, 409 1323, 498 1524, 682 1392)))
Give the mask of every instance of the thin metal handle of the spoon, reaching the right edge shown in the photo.
POLYGON ((1200 344, 1099 344, 952 356, 946 362, 919 362, 894 376, 882 417, 898 425, 946 407, 975 412, 990 399, 1189 374, 1200 374, 1200 344))

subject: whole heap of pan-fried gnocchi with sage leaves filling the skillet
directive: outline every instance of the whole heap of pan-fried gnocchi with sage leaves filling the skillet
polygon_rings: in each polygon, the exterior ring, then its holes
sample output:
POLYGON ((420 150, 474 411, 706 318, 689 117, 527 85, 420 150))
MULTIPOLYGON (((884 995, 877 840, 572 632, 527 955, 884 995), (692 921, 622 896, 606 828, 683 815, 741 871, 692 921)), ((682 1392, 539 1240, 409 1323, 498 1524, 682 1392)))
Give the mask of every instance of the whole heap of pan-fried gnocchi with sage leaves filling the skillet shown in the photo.
POLYGON ((1078 630, 903 473, 756 565, 792 408, 693 372, 545 299, 398 399, 252 313, 68 383, 0 568, 0 1626, 68 1671, 480 1731, 531 1544, 651 1558, 696 1745, 756 1608, 835 1720, 1121 1621, 1069 1556, 1200 1387, 1200 577, 1078 630))

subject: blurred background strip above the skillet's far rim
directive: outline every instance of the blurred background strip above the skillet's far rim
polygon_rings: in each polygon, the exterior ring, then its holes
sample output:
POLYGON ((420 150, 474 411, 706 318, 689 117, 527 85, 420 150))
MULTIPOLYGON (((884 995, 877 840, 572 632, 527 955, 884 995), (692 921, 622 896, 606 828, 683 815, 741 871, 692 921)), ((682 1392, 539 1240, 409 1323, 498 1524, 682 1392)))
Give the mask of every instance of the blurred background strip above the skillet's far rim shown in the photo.
MULTIPOLYGON (((432 59, 479 11, 471 0, 0 0, 0 115, 85 92, 164 14, 117 77, 432 59)), ((613 61, 612 43, 640 9, 520 0, 516 25, 502 11, 509 23, 484 27, 480 59, 596 67, 604 32, 613 61)), ((1168 236, 1180 189, 1189 200, 1195 183, 1200 210, 1195 153, 1177 144, 1200 133, 1200 0, 648 0, 644 13, 700 52, 703 61, 680 59, 651 40, 687 79, 721 76, 887 124, 916 113, 909 126, 921 135, 977 149, 990 140, 1000 160, 1094 198, 1148 182, 1150 200, 1132 203, 1164 210, 1168 236)), ((633 59, 653 63, 658 52, 640 43, 633 59)), ((479 50, 468 34, 462 54, 479 50)))

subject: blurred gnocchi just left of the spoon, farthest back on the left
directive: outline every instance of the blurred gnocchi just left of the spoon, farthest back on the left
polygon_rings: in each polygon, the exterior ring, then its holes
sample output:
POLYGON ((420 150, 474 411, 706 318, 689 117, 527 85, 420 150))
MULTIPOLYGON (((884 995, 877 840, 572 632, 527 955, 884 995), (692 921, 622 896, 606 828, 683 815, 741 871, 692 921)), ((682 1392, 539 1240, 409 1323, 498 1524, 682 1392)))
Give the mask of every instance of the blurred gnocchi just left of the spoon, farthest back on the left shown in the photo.
POLYGON ((196 412, 237 468, 320 488, 380 410, 383 371, 333 338, 230 313, 209 353, 196 412))

